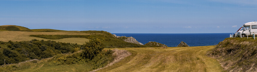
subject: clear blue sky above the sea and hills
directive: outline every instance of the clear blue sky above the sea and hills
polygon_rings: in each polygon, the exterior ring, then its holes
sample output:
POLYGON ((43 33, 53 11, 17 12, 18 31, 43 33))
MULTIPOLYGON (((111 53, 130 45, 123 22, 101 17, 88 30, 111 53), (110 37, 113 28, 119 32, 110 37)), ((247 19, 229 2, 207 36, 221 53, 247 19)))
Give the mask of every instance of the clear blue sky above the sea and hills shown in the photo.
POLYGON ((0 0, 0 25, 111 33, 233 33, 256 0, 0 0))

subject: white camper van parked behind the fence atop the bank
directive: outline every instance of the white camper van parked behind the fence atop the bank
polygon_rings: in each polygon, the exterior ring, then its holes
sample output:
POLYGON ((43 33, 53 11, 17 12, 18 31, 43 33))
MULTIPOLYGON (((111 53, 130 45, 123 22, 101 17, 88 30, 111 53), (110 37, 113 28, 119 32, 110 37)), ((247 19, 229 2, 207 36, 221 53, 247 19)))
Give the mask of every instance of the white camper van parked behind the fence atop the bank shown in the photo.
POLYGON ((247 37, 248 36, 253 36, 253 32, 257 34, 257 22, 248 22, 245 23, 239 30, 238 32, 235 33, 238 37, 247 37))

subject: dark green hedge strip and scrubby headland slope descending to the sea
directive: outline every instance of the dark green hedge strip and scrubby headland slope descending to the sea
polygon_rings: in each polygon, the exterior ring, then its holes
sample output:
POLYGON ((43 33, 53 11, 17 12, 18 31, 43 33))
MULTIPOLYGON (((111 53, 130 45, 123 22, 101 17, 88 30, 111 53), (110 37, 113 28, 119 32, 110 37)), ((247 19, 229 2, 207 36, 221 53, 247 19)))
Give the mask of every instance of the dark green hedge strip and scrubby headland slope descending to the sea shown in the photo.
POLYGON ((45 38, 45 39, 64 39, 64 38, 98 38, 107 48, 123 48, 123 47, 144 47, 140 44, 129 43, 123 41, 123 38, 117 38, 106 31, 80 31, 90 35, 29 35, 30 37, 45 38))

